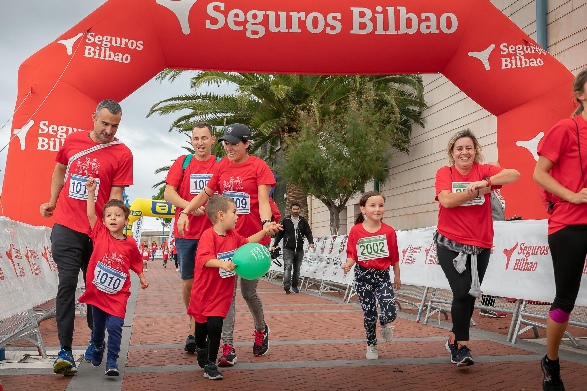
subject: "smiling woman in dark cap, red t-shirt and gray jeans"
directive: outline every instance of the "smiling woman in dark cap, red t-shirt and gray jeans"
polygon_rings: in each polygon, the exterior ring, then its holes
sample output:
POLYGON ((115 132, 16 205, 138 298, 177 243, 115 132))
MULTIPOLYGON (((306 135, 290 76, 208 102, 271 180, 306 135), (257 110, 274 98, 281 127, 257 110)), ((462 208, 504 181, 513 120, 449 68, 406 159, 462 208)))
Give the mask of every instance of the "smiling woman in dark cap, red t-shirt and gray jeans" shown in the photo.
MULTIPOLYGON (((239 235, 248 237, 268 230, 269 236, 275 234, 280 226, 271 221, 271 205, 269 205, 269 190, 275 186, 275 178, 269 166, 262 160, 248 154, 251 148, 251 131, 243 124, 232 124, 224 130, 220 138, 227 157, 222 158, 214 166, 210 182, 204 187, 204 191, 198 194, 189 205, 180 213, 177 229, 180 234, 189 232, 191 225, 188 221, 188 213, 200 208, 214 195, 220 192, 231 197, 237 206, 239 219, 236 231, 239 235)), ((269 247, 271 239, 266 237, 261 244, 269 247)), ((255 342, 253 354, 264 355, 269 349, 269 327, 265 324, 263 304, 257 293, 257 280, 241 278, 241 294, 247 302, 249 311, 255 322, 255 342)), ((234 294, 237 290, 235 280, 234 294)), ((234 299, 230 311, 223 325, 222 331, 222 356, 220 366, 234 365, 237 361, 236 351, 233 346, 234 334, 234 299)))

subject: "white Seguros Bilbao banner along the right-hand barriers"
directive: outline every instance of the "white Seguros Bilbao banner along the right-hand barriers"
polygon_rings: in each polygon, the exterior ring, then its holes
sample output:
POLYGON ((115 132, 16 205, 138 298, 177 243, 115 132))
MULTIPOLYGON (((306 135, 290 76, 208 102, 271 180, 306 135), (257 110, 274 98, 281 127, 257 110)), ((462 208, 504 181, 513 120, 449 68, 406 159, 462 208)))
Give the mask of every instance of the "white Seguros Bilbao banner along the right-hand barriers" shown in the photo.
MULTIPOLYGON (((481 290, 484 294, 551 302, 554 299, 554 271, 548 246, 547 220, 494 222, 494 247, 481 290)), ((400 278, 403 284, 450 289, 436 257, 432 234, 436 226, 397 231, 400 278)), ((353 269, 347 276, 340 265, 346 261, 348 236, 315 238, 310 249, 304 242, 300 276, 352 284, 353 269)), ((283 263, 282 260, 280 260, 283 263)), ((272 270, 283 271, 275 264, 272 270)), ((393 274, 393 270, 390 271, 393 274)), ((392 277, 393 278, 393 277, 392 277)), ((587 262, 576 305, 587 305, 587 262)))

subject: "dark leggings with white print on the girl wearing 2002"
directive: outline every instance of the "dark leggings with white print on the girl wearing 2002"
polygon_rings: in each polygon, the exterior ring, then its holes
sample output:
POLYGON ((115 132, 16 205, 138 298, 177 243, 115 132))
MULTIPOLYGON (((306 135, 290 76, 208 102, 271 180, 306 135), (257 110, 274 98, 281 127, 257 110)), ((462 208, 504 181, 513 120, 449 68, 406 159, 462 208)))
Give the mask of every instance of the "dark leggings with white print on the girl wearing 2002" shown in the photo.
POLYGON ((363 308, 367 345, 377 345, 375 327, 377 324, 377 305, 379 302, 381 315, 379 324, 384 326, 396 320, 396 297, 393 295, 393 284, 389 279, 389 269, 379 270, 355 266, 355 289, 363 308))

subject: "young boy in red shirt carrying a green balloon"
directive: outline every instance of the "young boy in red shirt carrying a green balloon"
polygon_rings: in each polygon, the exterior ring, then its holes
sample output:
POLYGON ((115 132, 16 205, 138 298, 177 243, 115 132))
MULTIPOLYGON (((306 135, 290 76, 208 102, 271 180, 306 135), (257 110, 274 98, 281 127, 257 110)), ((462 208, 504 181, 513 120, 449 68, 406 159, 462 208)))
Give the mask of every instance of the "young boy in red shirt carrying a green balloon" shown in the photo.
POLYGON ((212 196, 206 205, 206 215, 212 227, 200 237, 187 312, 195 319, 198 365, 204 368, 204 378, 218 380, 223 376, 218 371, 216 359, 222 322, 232 302, 235 272, 243 278, 259 278, 269 269, 271 256, 264 246, 252 244, 263 239, 268 233, 266 230, 246 239, 234 231, 238 220, 237 206, 230 197, 212 196))

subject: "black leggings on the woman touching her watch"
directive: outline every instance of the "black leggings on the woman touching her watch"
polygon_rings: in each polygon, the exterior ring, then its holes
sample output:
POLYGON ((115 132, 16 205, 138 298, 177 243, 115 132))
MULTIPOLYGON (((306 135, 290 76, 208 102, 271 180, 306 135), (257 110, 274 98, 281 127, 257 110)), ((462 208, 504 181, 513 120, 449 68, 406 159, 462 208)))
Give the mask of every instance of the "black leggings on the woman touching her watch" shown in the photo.
MULTIPOLYGON (((475 310, 475 297, 469 294, 471 289, 471 256, 467 257, 467 270, 458 273, 454 268, 453 259, 458 255, 456 251, 444 250, 436 247, 438 263, 448 280, 453 291, 453 305, 451 307, 451 318, 453 318, 453 334, 458 342, 469 340, 469 322, 475 310)), ((479 281, 483 283, 485 270, 489 264, 490 249, 484 249, 477 255, 477 271, 479 281)))

